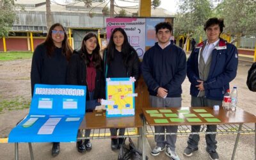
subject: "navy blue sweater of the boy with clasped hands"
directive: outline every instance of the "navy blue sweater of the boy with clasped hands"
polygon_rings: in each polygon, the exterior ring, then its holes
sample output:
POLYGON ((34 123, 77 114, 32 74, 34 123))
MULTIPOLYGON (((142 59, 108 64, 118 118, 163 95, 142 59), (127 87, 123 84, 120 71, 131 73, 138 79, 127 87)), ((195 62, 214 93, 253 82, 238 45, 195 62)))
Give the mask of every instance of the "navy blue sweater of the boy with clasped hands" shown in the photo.
POLYGON ((186 77, 186 54, 176 45, 164 49, 156 43, 143 56, 141 71, 150 95, 157 95, 157 89, 168 90, 167 97, 181 97, 186 77))

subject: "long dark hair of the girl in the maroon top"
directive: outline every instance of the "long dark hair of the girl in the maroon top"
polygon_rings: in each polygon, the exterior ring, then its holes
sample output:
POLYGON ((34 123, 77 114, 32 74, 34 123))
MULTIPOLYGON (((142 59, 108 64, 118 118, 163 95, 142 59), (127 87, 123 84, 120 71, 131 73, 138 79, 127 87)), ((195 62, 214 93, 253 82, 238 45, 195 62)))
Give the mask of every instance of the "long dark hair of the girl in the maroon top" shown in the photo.
POLYGON ((101 69, 101 57, 100 57, 100 44, 99 44, 99 40, 97 38, 97 36, 95 35, 95 33, 87 33, 82 41, 82 45, 81 45, 81 57, 84 59, 86 65, 89 65, 90 63, 90 58, 89 58, 89 54, 86 50, 86 45, 84 44, 84 42, 86 42, 86 40, 95 37, 97 40, 97 45, 96 48, 92 51, 92 63, 93 63, 93 67, 95 68, 100 68, 101 69))

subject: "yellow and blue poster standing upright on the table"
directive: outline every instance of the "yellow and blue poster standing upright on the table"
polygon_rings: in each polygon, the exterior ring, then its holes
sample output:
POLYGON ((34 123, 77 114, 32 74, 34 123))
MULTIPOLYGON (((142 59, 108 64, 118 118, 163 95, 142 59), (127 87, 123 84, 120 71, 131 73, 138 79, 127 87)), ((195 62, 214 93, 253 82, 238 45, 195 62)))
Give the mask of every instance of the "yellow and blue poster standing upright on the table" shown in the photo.
POLYGON ((132 78, 106 79, 106 117, 134 116, 136 96, 132 78))

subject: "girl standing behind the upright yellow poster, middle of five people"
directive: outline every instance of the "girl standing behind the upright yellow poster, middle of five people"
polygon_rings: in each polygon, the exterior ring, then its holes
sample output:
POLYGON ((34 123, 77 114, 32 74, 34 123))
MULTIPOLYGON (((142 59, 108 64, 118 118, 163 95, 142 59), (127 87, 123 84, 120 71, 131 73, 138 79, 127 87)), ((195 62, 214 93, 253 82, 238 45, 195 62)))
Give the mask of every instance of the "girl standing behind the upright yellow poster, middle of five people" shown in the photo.
MULTIPOLYGON (((137 52, 129 44, 127 35, 122 28, 115 28, 103 55, 105 77, 140 77, 140 59, 137 52)), ((116 136, 117 128, 110 129, 111 136, 116 136)), ((125 129, 119 129, 119 136, 124 135, 125 129)), ((112 138, 111 149, 121 147, 124 138, 112 138)))

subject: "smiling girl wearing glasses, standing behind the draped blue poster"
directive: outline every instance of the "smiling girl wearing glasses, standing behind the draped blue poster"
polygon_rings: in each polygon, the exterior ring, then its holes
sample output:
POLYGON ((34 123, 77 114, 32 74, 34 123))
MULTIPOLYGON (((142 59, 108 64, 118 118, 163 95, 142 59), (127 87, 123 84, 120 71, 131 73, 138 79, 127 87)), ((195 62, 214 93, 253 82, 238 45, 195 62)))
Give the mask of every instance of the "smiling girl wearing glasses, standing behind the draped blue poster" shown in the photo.
MULTIPOLYGON (((44 43, 35 49, 31 65, 31 92, 35 84, 66 84, 68 61, 72 48, 68 45, 67 34, 59 23, 49 29, 44 43)), ((60 153, 60 143, 52 145, 52 156, 60 153)))

